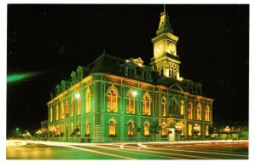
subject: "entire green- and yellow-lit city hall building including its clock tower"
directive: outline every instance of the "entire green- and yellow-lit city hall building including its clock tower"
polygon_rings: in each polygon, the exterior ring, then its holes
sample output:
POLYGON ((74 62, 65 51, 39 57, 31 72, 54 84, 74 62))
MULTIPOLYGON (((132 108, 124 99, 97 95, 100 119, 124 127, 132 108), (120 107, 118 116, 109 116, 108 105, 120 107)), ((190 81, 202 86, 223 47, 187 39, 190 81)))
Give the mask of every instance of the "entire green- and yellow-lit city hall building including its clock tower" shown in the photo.
POLYGON ((144 142, 209 138, 212 98, 180 76, 177 36, 160 15, 154 56, 123 59, 103 53, 57 84, 48 106, 51 141, 144 142))

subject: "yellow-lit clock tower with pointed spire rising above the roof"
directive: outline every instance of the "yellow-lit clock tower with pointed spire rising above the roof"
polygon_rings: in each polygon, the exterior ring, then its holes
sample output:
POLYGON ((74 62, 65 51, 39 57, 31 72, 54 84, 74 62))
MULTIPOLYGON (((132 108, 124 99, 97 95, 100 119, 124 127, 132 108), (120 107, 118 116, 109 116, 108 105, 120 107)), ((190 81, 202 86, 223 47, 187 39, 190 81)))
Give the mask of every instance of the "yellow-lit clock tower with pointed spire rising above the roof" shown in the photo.
POLYGON ((177 40, 177 36, 173 35, 165 5, 164 12, 160 14, 156 37, 151 40, 154 45, 154 58, 151 58, 150 65, 160 76, 180 80, 179 65, 181 62, 177 55, 177 40))

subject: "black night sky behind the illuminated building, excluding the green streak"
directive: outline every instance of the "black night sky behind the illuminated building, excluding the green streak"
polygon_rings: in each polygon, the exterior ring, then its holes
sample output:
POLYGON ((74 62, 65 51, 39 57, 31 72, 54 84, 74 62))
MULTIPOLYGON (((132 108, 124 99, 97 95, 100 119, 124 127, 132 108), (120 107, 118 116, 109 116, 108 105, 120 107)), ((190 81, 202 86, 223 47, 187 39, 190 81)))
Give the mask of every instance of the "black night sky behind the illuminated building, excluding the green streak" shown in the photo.
MULTIPOLYGON (((163 5, 8 5, 8 75, 38 72, 7 84, 7 130, 38 130, 49 93, 103 50, 129 59, 153 57, 151 38, 163 5)), ((213 122, 248 120, 248 5, 166 5, 184 78, 215 99, 213 122)))

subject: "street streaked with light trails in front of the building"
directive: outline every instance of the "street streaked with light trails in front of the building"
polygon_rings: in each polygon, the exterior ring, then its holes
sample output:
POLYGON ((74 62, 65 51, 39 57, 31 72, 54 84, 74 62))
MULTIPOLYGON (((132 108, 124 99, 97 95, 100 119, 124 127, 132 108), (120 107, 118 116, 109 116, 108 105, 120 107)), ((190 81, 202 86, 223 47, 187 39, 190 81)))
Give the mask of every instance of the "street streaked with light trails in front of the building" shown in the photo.
POLYGON ((67 143, 8 140, 7 159, 248 159, 248 142, 67 143))

